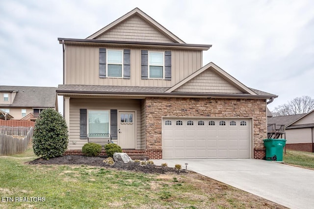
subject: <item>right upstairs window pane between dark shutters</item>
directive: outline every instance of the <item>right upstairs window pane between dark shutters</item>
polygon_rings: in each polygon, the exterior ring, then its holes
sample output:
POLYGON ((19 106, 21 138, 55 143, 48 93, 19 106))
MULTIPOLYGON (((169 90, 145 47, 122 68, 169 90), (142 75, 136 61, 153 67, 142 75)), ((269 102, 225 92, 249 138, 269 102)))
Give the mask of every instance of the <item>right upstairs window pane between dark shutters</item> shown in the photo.
POLYGON ((148 69, 149 78, 163 79, 164 78, 164 53, 163 52, 148 52, 148 69))

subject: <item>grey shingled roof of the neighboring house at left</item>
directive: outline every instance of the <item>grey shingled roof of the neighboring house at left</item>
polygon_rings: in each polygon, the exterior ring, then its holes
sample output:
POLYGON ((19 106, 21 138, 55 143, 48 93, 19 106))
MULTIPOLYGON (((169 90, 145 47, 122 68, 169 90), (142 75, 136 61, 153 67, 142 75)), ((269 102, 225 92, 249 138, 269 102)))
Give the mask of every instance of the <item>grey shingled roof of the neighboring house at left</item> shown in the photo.
POLYGON ((0 92, 17 92, 12 104, 0 107, 57 108, 55 87, 0 86, 0 92))

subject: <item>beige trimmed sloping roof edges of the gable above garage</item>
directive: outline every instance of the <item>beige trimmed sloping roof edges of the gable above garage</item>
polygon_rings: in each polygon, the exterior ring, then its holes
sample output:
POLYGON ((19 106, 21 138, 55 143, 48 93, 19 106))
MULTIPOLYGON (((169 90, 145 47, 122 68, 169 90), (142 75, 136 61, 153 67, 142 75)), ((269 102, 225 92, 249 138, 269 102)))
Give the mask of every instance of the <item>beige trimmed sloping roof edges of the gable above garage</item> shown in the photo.
MULTIPOLYGON (((228 74, 226 71, 222 70, 221 68, 219 68, 217 65, 215 65, 214 63, 210 62, 209 64, 207 64, 206 66, 204 66, 203 68, 195 71, 194 73, 192 73, 191 75, 189 75, 188 77, 184 78, 182 81, 180 81, 179 83, 177 83, 176 85, 174 85, 173 87, 171 87, 170 89, 168 89, 166 92, 167 93, 171 93, 174 92, 176 89, 178 89, 179 87, 182 87, 183 85, 185 85, 188 81, 191 81, 193 78, 195 78, 196 76, 200 75, 202 72, 206 71, 206 70, 210 70, 212 72, 214 72, 215 74, 217 74, 219 77, 221 77, 223 80, 227 81, 231 86, 233 86, 235 89, 239 90, 241 93, 248 93, 251 95, 258 95, 258 93, 256 93, 255 91, 253 91, 252 89, 246 87, 244 84, 242 84, 241 82, 239 82, 238 80, 236 80, 234 77, 232 77, 230 74, 228 74)), ((274 95, 275 96, 275 95, 274 95)), ((277 96, 276 96, 277 97, 277 96)))

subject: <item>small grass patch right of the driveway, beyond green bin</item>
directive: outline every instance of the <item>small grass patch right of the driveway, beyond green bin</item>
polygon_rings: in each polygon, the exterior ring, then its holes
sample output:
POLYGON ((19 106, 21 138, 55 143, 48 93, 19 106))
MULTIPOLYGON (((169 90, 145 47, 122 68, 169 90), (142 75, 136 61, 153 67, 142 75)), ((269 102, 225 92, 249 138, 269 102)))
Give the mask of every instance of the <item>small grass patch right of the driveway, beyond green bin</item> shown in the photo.
POLYGON ((314 153, 287 150, 286 154, 284 153, 284 162, 314 169, 314 153))

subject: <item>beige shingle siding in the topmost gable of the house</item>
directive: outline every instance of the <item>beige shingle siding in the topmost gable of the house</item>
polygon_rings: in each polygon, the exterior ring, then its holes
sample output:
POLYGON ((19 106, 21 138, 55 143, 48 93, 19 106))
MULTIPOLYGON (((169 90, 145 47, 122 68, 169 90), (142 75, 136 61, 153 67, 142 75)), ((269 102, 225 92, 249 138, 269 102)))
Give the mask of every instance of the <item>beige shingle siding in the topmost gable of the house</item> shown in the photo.
POLYGON ((133 16, 123 23, 116 25, 97 39, 110 41, 173 43, 138 16, 133 16))

